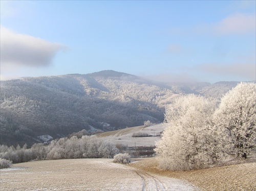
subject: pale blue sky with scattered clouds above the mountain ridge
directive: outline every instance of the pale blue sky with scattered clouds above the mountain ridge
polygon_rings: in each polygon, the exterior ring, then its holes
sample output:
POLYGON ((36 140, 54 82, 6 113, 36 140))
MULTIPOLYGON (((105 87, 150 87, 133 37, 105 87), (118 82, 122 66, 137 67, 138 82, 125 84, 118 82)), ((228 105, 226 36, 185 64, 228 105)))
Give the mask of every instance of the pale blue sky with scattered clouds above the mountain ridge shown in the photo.
POLYGON ((256 1, 3 1, 1 80, 101 70, 255 80, 256 1))

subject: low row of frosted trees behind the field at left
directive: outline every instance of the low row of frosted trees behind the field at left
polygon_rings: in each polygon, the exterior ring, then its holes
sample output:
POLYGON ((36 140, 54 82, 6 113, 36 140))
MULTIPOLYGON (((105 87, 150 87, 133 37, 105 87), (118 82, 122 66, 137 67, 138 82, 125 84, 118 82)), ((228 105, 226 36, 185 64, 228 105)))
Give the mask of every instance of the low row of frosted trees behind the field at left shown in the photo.
POLYGON ((52 140, 49 145, 34 144, 31 148, 19 145, 15 148, 0 146, 0 158, 13 163, 32 160, 72 159, 72 158, 113 158, 119 149, 113 142, 96 136, 72 136, 52 140))

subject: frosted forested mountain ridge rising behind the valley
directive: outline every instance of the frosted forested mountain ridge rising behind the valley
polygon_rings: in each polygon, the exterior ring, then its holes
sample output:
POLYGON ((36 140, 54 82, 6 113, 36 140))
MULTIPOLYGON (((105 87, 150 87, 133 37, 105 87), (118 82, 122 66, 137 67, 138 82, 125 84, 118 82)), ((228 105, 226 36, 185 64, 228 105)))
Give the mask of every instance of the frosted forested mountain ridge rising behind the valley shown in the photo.
POLYGON ((1 144, 161 123, 179 94, 218 98, 237 83, 166 84, 113 70, 1 81, 1 144))

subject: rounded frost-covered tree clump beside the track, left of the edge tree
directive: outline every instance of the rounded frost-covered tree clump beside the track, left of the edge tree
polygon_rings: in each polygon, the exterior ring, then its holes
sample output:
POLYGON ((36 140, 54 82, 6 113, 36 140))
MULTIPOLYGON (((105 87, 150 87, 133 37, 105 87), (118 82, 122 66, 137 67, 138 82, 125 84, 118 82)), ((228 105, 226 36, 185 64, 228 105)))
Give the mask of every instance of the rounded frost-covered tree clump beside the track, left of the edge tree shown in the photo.
POLYGON ((214 104, 194 94, 179 97, 166 108, 165 129, 155 149, 161 168, 200 169, 218 159, 218 140, 213 136, 217 133, 211 125, 214 109, 214 104))

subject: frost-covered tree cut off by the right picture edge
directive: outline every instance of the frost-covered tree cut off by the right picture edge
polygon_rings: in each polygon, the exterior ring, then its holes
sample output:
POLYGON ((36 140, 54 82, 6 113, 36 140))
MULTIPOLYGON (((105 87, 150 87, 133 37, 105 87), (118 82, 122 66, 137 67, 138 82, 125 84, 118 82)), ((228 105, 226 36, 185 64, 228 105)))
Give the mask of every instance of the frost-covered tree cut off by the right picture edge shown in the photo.
POLYGON ((230 149, 246 158, 255 147, 256 84, 240 83, 221 99, 215 112, 215 124, 226 130, 230 149))

